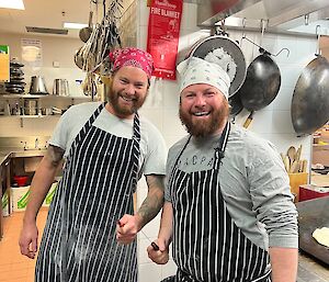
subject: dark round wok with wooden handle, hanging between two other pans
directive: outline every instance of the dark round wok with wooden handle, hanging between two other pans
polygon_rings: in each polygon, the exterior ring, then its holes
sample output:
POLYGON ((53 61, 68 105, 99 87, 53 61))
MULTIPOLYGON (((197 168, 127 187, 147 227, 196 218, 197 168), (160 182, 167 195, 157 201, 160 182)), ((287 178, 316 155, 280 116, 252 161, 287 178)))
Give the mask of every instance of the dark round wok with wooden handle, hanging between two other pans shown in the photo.
POLYGON ((243 108, 250 111, 245 127, 248 127, 253 112, 269 105, 277 95, 281 86, 281 72, 270 53, 262 53, 254 58, 247 69, 246 80, 239 90, 243 108))

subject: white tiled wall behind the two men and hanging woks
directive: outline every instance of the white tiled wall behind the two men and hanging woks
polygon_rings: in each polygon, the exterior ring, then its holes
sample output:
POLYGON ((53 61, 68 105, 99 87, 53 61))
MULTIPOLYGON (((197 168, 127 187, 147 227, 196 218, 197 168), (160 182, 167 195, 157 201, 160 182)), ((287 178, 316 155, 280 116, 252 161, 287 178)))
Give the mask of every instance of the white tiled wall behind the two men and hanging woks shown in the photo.
MULTIPOLYGON (((147 42, 147 19, 149 10, 145 1, 139 1, 139 14, 137 29, 138 47, 146 48, 147 42)), ((179 43, 178 61, 181 61, 192 44, 209 34, 207 30, 200 30, 196 26, 196 4, 184 3, 183 18, 181 24, 181 37, 179 43)), ((241 41, 242 32, 229 31, 230 38, 241 41)), ((247 33, 246 36, 260 44, 260 33, 247 33)), ((247 66, 260 55, 258 47, 247 41, 240 43, 246 57, 247 66)), ((279 151, 286 151, 291 145, 303 145, 302 158, 310 157, 310 137, 297 138, 291 121, 291 102, 295 84, 304 67, 314 58, 316 41, 310 38, 283 36, 275 34, 264 34, 262 46, 271 54, 277 54, 281 48, 288 48, 290 56, 282 52, 277 57, 273 57, 280 67, 282 84, 275 100, 266 108, 256 112, 249 129, 256 132, 265 139, 271 140, 279 151)), ((143 113, 161 129, 168 147, 185 135, 185 131, 178 117, 178 84, 174 81, 156 80, 150 89, 148 103, 143 113), (152 97, 155 95, 155 97, 152 97), (157 105, 154 111, 152 105, 157 105)), ((248 116, 248 111, 243 110, 237 117, 236 123, 242 125, 248 116)), ((138 203, 140 204, 147 193, 145 182, 138 188, 138 203)), ((159 216, 144 228, 144 233, 149 238, 155 238, 159 228, 159 216)), ((146 247, 148 240, 144 235, 139 236, 139 281, 158 282, 161 279, 174 274, 175 266, 172 260, 168 264, 159 267, 150 263, 147 258, 146 247)))

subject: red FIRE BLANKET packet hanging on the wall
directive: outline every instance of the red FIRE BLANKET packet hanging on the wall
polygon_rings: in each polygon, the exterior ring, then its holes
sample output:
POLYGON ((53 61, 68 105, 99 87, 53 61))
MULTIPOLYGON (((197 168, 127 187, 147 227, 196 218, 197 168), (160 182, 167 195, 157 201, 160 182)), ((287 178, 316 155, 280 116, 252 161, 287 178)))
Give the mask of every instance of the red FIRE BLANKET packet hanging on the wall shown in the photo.
POLYGON ((182 9, 182 0, 151 1, 147 52, 154 57, 156 77, 175 80, 182 9))

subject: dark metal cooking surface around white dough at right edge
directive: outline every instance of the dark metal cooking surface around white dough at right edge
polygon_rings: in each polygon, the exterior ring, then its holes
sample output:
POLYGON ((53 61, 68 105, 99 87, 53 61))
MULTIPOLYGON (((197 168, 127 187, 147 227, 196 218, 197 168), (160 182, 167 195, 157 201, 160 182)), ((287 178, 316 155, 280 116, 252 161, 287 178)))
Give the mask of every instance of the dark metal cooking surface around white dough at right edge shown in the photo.
POLYGON ((329 264, 329 248, 313 238, 316 228, 329 227, 329 196, 296 204, 299 225, 299 249, 329 264))

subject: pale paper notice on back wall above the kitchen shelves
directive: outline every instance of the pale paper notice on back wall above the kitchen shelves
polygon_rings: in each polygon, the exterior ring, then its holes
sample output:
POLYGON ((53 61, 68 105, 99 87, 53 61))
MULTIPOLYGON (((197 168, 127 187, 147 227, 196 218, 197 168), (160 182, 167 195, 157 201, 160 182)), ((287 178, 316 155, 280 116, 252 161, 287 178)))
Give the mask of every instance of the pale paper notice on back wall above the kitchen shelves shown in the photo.
POLYGON ((42 42, 39 40, 22 38, 21 46, 23 64, 30 67, 42 67, 42 42))

